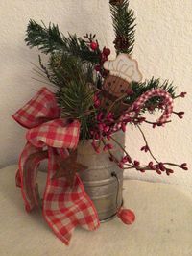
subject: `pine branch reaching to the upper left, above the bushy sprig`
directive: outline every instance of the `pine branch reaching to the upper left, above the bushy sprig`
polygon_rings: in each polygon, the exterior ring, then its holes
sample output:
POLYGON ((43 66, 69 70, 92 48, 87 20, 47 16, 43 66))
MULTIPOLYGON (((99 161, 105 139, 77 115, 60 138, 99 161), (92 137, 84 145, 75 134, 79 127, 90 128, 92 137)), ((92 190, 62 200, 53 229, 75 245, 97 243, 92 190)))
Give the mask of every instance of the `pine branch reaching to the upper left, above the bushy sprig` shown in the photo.
POLYGON ((60 34, 58 25, 49 24, 48 28, 43 24, 30 20, 27 27, 25 41, 31 48, 38 49, 45 54, 65 53, 79 57, 83 62, 98 64, 100 61, 100 50, 91 51, 89 45, 82 38, 69 34, 68 37, 60 34))

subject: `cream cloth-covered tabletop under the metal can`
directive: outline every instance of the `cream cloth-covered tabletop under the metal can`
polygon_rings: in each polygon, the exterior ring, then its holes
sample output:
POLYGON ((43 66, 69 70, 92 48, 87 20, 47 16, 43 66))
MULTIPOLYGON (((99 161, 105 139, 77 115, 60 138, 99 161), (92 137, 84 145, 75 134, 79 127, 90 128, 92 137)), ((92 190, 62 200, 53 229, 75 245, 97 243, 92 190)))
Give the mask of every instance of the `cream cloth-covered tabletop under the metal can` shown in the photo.
MULTIPOLYGON (((125 181, 124 200, 136 221, 118 218, 88 232, 77 228, 67 247, 36 211, 27 214, 14 186, 17 166, 0 170, 0 256, 191 256, 192 196, 173 185, 125 181)), ((39 182, 45 179, 39 174, 39 182)))

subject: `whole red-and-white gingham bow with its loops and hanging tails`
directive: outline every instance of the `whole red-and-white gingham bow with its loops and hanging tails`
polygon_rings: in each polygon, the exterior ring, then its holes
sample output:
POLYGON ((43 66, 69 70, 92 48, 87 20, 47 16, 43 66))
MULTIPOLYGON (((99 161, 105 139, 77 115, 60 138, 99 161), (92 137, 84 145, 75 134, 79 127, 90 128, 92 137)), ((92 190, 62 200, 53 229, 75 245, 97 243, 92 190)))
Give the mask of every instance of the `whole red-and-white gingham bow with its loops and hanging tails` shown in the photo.
POLYGON ((87 230, 98 228, 97 212, 79 176, 76 175, 72 188, 64 177, 52 179, 59 167, 57 156, 66 157, 67 149, 77 147, 80 123, 77 120, 68 123, 60 118, 55 95, 46 88, 39 90, 12 117, 29 129, 16 173, 16 184, 21 187, 26 211, 41 204, 36 185, 37 166, 48 158, 42 212, 49 226, 65 244, 69 244, 72 231, 78 225, 87 230))

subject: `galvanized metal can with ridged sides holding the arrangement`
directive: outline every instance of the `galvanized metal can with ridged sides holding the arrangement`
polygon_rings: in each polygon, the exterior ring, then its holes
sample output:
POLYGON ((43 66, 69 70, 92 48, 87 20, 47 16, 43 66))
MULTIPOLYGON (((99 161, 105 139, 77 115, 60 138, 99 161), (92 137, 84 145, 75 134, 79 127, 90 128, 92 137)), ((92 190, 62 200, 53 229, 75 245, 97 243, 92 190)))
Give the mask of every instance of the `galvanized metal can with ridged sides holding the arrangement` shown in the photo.
MULTIPOLYGON (((118 132, 113 138, 123 146, 125 135, 118 132)), ((113 143, 112 153, 117 157, 123 156, 119 146, 113 143)), ((78 145, 78 161, 88 166, 80 177, 84 183, 84 190, 89 195, 98 212, 99 219, 106 221, 116 215, 117 208, 122 205, 123 170, 109 161, 108 152, 95 152, 91 141, 80 142, 78 145), (115 175, 112 176, 112 173, 115 175), (116 176, 116 177, 115 177, 116 176)))

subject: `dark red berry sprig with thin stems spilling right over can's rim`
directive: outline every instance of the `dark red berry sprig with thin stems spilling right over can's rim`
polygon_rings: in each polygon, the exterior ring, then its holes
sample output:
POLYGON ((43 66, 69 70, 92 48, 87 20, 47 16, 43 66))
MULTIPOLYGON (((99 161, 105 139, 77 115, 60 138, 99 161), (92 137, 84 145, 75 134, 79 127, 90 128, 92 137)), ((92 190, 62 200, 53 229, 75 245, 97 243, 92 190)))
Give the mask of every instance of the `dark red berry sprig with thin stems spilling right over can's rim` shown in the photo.
MULTIPOLYGON (((128 91, 128 95, 129 94, 132 95, 132 90, 128 91)), ((126 118, 123 118, 123 119, 121 119, 121 118, 115 119, 114 114, 111 112, 111 110, 109 110, 108 113, 106 114, 99 109, 100 96, 99 96, 98 92, 94 96, 94 103, 95 103, 95 107, 98 108, 98 114, 96 115, 97 125, 94 127, 94 130, 91 131, 91 135, 93 138, 92 145, 97 153, 100 153, 100 148, 101 148, 100 142, 102 141, 104 144, 103 150, 108 151, 109 160, 114 162, 121 169, 134 168, 140 172, 145 172, 146 170, 152 170, 152 171, 155 171, 158 175, 161 175, 163 172, 166 173, 167 175, 174 173, 174 170, 172 168, 170 168, 169 166, 177 166, 183 170, 188 169, 186 163, 183 163, 181 165, 177 165, 177 164, 173 164, 173 163, 163 163, 163 162, 159 162, 158 160, 156 160, 156 157, 153 155, 153 153, 148 145, 148 142, 145 138, 145 135, 143 134, 142 130, 140 129, 140 124, 143 122, 146 122, 146 123, 152 124, 153 127, 156 127, 156 126, 162 126, 162 123, 158 123, 158 122, 153 123, 153 122, 147 121, 145 117, 140 115, 141 110, 136 107, 131 111, 132 115, 128 115, 128 116, 125 115, 126 118), (141 151, 149 152, 150 155, 152 156, 152 158, 155 160, 155 164, 151 161, 147 165, 141 165, 138 160, 132 160, 131 156, 128 154, 128 152, 125 150, 125 148, 112 137, 112 134, 118 130, 122 130, 123 132, 125 132, 126 125, 128 123, 132 123, 139 128, 139 130, 143 136, 143 139, 146 143, 143 147, 141 147, 141 151), (114 130, 114 126, 116 127, 116 130, 114 130), (106 140, 113 141, 120 147, 122 152, 124 152, 124 156, 121 159, 117 159, 113 155, 113 152, 112 152, 113 145, 111 142, 108 143, 106 140)), ((161 107, 160 104, 158 107, 159 108, 161 107)), ((178 115, 180 118, 182 118, 182 115, 184 114, 184 112, 178 112, 178 113, 175 112, 175 114, 178 115)))

